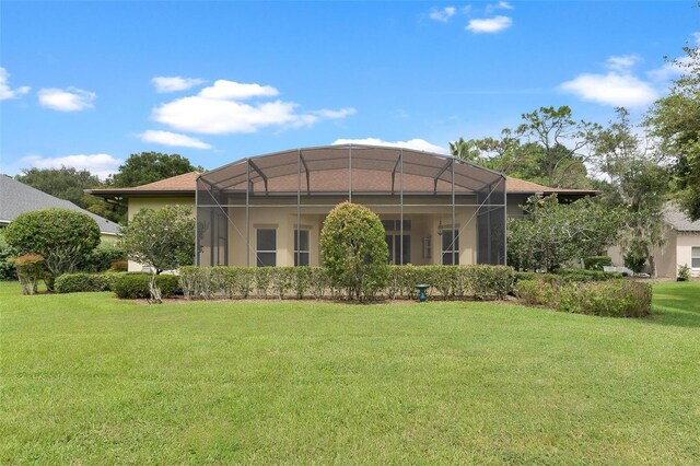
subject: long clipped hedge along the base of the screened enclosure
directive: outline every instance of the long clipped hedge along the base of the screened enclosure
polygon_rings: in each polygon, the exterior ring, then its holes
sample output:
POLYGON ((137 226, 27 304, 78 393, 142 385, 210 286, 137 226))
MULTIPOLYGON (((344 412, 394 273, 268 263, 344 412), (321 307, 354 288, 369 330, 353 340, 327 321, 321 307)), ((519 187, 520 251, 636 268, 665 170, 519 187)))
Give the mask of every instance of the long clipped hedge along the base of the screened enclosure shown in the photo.
MULTIPOLYGON (((392 266, 383 292, 388 299, 416 299, 416 286, 427 283, 443 299, 503 299, 512 292, 514 275, 504 266, 392 266)), ((185 298, 345 298, 320 267, 183 267, 185 298)))

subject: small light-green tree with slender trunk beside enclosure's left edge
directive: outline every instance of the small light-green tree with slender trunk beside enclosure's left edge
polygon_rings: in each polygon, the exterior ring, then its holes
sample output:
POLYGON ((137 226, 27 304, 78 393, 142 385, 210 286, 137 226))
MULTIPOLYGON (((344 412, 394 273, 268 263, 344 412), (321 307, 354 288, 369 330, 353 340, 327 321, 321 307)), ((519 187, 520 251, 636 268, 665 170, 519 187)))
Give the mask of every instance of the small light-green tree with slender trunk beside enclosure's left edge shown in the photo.
POLYGON ((122 229, 122 246, 129 259, 149 266, 151 302, 161 303, 155 276, 192 264, 195 257, 195 219, 191 209, 167 206, 141 209, 122 229))

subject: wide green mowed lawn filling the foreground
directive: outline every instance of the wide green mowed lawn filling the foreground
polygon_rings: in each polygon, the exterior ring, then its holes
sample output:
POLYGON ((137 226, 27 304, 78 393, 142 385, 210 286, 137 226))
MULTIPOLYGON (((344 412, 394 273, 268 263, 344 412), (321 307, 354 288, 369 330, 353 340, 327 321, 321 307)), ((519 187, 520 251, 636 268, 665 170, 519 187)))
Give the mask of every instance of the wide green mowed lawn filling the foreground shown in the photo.
POLYGON ((21 296, 0 463, 700 463, 700 282, 615 319, 500 303, 21 296))

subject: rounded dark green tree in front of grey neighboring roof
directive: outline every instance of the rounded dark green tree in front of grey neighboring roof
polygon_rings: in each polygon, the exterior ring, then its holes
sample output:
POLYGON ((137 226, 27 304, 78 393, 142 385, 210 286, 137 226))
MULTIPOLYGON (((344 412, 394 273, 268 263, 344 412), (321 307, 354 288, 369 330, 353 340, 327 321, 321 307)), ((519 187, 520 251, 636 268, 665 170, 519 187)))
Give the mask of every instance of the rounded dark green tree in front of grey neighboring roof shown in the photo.
POLYGON ((47 270, 46 288, 75 270, 100 244, 100 226, 91 217, 69 209, 43 209, 22 213, 5 230, 5 241, 18 254, 38 254, 47 270))

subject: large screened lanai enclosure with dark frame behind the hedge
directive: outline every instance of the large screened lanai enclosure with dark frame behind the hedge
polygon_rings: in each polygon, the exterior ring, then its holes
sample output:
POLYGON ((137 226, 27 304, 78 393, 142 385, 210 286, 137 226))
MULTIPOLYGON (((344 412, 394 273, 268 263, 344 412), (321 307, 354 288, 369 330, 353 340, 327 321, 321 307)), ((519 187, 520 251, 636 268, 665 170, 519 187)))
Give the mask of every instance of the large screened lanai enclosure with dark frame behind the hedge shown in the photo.
POLYGON ((390 264, 505 264, 505 176, 451 155, 294 149, 207 172, 196 197, 198 265, 320 265, 324 220, 346 200, 380 217, 390 264))

